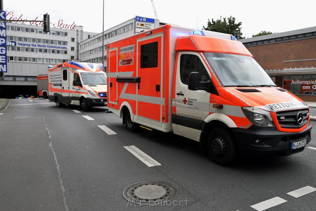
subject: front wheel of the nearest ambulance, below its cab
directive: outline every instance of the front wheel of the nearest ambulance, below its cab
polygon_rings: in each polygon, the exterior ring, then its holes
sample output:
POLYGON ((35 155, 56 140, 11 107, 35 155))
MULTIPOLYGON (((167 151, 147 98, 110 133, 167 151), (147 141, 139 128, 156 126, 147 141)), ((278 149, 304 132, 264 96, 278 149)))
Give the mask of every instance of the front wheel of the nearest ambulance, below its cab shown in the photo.
POLYGON ((234 164, 239 155, 233 134, 224 127, 210 131, 207 138, 207 150, 211 160, 222 166, 234 164))

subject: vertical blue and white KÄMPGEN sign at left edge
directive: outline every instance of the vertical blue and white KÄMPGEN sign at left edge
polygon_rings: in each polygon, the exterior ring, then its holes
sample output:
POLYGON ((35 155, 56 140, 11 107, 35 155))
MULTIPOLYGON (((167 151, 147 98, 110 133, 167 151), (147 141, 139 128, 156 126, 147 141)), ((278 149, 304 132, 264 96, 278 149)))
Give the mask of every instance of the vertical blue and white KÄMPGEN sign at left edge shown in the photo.
POLYGON ((6 13, 0 10, 0 72, 7 72, 6 13))

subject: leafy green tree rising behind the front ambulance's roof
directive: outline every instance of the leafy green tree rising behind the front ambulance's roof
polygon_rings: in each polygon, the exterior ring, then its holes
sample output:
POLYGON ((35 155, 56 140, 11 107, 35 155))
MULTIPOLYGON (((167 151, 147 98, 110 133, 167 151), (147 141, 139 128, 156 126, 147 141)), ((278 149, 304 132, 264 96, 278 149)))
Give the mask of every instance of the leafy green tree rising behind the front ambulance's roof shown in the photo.
POLYGON ((235 23, 236 19, 232 16, 229 18, 223 17, 222 16, 220 19, 217 19, 216 21, 213 20, 207 22, 207 27, 203 26, 204 30, 209 30, 213 32, 221 32, 225 34, 232 34, 234 35, 237 39, 242 39, 242 33, 241 33, 241 22, 235 23))

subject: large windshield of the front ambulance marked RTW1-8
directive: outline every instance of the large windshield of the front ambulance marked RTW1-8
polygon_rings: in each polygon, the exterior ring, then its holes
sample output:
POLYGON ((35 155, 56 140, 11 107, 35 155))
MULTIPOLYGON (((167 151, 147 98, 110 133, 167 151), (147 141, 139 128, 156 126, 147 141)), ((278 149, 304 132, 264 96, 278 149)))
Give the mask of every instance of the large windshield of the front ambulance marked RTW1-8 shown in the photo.
POLYGON ((250 56, 204 53, 222 86, 276 86, 264 69, 250 56))

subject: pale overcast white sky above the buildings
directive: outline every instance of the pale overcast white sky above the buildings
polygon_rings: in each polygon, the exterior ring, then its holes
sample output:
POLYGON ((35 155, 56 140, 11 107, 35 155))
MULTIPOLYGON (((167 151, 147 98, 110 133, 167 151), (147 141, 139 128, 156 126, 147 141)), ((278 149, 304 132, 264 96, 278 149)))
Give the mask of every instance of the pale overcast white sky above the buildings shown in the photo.
MULTIPOLYGON (((43 19, 50 22, 83 26, 83 31, 101 33, 135 16, 155 19, 151 0, 3 0, 3 10, 12 12, 7 19, 22 15, 22 19, 43 19)), ((286 32, 316 26, 315 1, 283 0, 153 0, 158 20, 187 28, 203 28, 208 19, 234 17, 241 22, 243 36, 252 37, 261 31, 286 32)), ((52 27, 52 26, 51 26, 52 27)))

